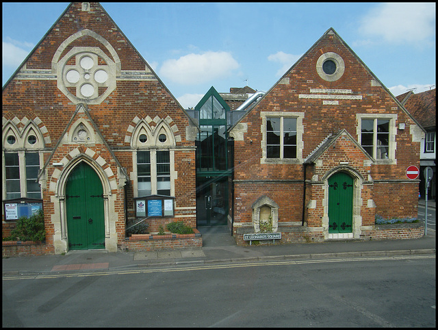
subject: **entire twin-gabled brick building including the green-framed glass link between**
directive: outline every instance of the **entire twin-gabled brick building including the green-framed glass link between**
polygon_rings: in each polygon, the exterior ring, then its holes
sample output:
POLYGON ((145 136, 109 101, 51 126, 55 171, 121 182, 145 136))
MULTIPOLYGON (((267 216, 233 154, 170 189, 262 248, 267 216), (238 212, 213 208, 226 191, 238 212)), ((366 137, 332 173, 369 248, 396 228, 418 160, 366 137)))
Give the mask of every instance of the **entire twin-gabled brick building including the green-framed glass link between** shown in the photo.
POLYGON ((242 244, 417 216, 424 129, 333 29, 268 92, 211 88, 190 114, 99 3, 71 3, 3 87, 3 236, 41 206, 44 253, 123 249, 140 219, 242 244))

